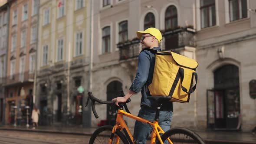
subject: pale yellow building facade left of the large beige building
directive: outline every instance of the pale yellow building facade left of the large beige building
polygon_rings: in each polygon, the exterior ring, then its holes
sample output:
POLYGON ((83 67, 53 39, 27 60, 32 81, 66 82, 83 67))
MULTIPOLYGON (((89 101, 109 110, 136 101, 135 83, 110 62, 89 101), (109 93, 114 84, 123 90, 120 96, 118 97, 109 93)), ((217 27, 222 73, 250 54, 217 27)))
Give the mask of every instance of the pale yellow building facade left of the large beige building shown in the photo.
POLYGON ((42 111, 42 124, 82 124, 83 94, 77 88, 86 84, 87 4, 85 0, 40 1, 36 105, 42 111))

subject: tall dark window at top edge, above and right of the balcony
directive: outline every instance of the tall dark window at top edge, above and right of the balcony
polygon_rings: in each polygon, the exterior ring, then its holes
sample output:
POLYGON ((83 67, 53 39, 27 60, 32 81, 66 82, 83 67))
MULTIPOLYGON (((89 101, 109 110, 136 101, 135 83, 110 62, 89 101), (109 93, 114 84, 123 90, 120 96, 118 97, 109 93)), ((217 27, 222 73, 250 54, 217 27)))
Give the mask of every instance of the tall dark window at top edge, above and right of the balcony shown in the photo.
POLYGON ((216 25, 215 0, 201 0, 201 28, 216 25))

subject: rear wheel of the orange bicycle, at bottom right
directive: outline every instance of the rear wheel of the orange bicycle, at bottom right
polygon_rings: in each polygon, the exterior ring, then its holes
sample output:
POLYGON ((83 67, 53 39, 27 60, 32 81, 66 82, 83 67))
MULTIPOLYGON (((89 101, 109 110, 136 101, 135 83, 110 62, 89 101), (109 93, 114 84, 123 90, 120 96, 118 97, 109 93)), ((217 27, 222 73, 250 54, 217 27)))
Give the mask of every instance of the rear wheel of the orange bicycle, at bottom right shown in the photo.
POLYGON ((166 131, 161 136, 162 141, 165 141, 167 137, 170 138, 173 144, 205 144, 203 139, 197 133, 187 128, 172 128, 166 131))

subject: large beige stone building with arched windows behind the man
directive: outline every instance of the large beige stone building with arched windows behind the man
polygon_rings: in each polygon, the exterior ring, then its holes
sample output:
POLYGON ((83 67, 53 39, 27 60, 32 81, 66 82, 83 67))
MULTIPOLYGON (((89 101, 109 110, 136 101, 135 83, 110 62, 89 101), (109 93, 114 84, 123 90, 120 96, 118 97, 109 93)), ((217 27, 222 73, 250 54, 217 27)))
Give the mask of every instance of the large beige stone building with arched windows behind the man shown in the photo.
MULTIPOLYGON (((160 47, 196 59, 197 90, 190 103, 174 103, 172 127, 250 131, 256 125, 256 3, 253 0, 100 0, 93 2, 92 92, 111 100, 128 91, 141 50, 136 31, 156 27, 160 47), (251 92, 251 93, 250 93, 251 92)), ((86 90, 85 90, 86 91, 86 90)), ((137 115, 141 94, 128 107, 137 115)), ((96 105, 92 126, 111 121, 109 108, 96 105)), ((128 126, 135 121, 126 119, 128 126)))

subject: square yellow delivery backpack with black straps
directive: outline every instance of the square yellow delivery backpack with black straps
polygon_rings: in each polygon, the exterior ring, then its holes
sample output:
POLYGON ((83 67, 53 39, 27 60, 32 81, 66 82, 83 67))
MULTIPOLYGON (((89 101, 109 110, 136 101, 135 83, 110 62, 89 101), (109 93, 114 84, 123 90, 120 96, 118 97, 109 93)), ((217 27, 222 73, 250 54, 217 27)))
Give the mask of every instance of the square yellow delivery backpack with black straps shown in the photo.
POLYGON ((153 80, 148 85, 150 94, 171 96, 170 101, 188 103, 197 86, 197 66, 194 59, 177 53, 155 52, 153 80))

